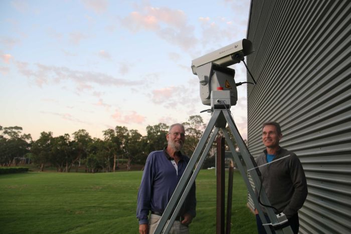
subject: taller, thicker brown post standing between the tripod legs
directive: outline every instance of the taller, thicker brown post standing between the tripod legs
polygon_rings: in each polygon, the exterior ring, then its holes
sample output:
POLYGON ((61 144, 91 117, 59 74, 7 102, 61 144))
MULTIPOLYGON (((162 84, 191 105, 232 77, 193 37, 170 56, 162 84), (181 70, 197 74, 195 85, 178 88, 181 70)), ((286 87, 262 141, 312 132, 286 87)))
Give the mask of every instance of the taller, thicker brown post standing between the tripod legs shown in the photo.
POLYGON ((225 138, 219 136, 217 143, 217 215, 216 233, 223 234, 225 230, 225 138))

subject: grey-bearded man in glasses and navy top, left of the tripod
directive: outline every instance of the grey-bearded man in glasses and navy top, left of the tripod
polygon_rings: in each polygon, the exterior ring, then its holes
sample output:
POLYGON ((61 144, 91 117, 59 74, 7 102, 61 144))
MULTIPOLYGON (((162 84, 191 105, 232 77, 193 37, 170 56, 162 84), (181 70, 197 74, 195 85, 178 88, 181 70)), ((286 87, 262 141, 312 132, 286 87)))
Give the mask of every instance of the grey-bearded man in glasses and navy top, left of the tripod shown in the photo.
MULTIPOLYGON (((140 234, 154 232, 190 160, 181 152, 185 141, 185 128, 182 124, 172 124, 166 139, 167 146, 163 150, 151 152, 146 159, 136 208, 140 234)), ((188 226, 195 215, 194 183, 169 233, 189 233, 188 226)))

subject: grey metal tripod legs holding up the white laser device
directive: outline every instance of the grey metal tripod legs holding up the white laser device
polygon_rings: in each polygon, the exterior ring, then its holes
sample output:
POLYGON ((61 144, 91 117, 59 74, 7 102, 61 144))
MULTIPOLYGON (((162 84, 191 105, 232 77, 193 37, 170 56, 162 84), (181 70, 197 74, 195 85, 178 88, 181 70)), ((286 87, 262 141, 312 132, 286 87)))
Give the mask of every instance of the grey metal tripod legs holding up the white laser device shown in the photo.
POLYGON ((273 227, 275 227, 275 232, 276 233, 284 233, 284 234, 288 234, 288 233, 292 233, 291 227, 290 226, 286 226, 286 227, 281 227, 280 224, 282 223, 286 223, 287 219, 284 216, 278 216, 274 213, 273 208, 271 207, 266 207, 266 211, 267 214, 269 216, 269 219, 271 220, 271 223, 266 223, 266 218, 264 216, 263 210, 261 209, 261 206, 259 205, 259 201, 256 198, 256 194, 255 191, 253 189, 253 187, 251 186, 251 183, 249 181, 249 178, 247 176, 247 171, 242 163, 242 160, 239 158, 239 155, 237 154, 236 150, 235 150, 235 146, 233 144, 233 142, 230 140, 229 134, 226 130, 226 125, 229 125, 230 131, 234 136, 234 139, 236 141, 236 143, 238 144, 238 147, 240 149, 241 155, 242 155, 242 159, 246 165, 247 168, 251 168, 248 171, 250 171, 250 175, 252 177, 252 180, 255 184, 255 187, 257 188, 257 191, 262 190, 260 197, 262 199, 262 202, 266 205, 270 205, 270 202, 268 200, 268 197, 266 195, 266 193, 264 192, 264 189, 260 189, 262 186, 260 177, 259 177, 259 170, 255 168, 255 161, 254 158, 251 156, 248 148, 246 147, 246 144, 244 143, 235 123, 234 120, 232 118, 232 116, 230 115, 229 110, 227 109, 227 107, 225 105, 223 105, 222 107, 219 107, 219 109, 214 109, 214 112, 212 114, 212 117, 209 121, 209 124, 207 125, 195 151, 194 154, 192 156, 192 158, 190 159, 188 166, 186 168, 186 170, 183 173, 182 178, 180 179, 177 187, 175 188, 173 195, 171 196, 166 209, 164 210, 162 217, 159 220, 159 223, 154 231, 154 234, 160 234, 160 233, 168 233, 174 220, 175 217, 177 216, 178 212, 181 209, 182 204, 184 203, 192 185, 195 182, 195 179, 201 169, 202 164, 205 161, 205 158, 212 146, 212 143, 215 140, 215 137, 217 135, 217 133, 219 132, 220 129, 222 129, 225 138, 227 139, 227 143, 228 146, 230 148, 230 151, 232 152, 232 156, 234 158, 234 161, 236 162, 236 165, 244 179, 244 182, 246 183, 247 189, 249 194, 251 195, 255 207, 257 208, 258 212, 259 212, 259 216, 262 220, 262 222, 264 223, 264 228, 266 230, 267 233, 272 233, 269 225, 272 225, 273 227), (212 134, 211 134, 212 133, 212 134), (211 135, 211 136, 210 136, 211 135), (209 139, 210 137, 210 139, 209 139), (209 140, 208 140, 209 139, 209 140), (205 147, 205 144, 208 140, 208 143, 205 147), (205 149, 204 149, 205 147, 205 149), (203 153, 201 154, 201 152, 203 151, 203 153), (200 156, 201 154, 201 156, 200 156), (199 159, 200 158, 200 159, 199 159), (199 162, 197 163, 199 159, 199 162), (196 164, 197 163, 197 164, 196 164), (195 167, 194 171, 193 168, 195 167), (175 209, 174 209, 175 207, 175 209), (168 217, 170 216, 171 212, 173 211, 169 222, 167 223, 164 232, 162 232, 162 229, 164 228, 168 217))

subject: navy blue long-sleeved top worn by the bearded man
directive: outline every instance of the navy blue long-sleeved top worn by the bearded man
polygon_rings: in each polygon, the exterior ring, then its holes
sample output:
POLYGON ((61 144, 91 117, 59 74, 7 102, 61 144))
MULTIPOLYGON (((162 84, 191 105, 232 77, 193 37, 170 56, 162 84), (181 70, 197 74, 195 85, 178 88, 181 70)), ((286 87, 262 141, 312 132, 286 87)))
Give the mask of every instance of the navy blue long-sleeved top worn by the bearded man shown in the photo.
MULTIPOLYGON (((187 156, 180 153, 178 171, 176 171, 172 165, 171 158, 165 150, 153 151, 148 155, 138 191, 136 217, 139 220, 139 224, 148 222, 149 211, 163 213, 189 160, 187 156)), ((180 210, 180 214, 189 213, 195 217, 195 208, 194 183, 180 210)))

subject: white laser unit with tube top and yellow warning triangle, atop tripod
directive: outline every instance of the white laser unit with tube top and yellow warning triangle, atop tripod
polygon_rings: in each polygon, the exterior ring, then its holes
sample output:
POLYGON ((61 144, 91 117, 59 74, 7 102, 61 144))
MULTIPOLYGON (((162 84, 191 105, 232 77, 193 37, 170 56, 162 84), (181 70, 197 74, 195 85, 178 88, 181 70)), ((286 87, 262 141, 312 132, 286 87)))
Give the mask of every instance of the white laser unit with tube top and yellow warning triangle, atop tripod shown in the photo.
POLYGON ((200 97, 204 105, 211 105, 211 91, 217 90, 217 87, 229 90, 231 105, 236 105, 235 70, 227 66, 240 63, 253 52, 251 41, 243 39, 192 61, 193 74, 198 75, 200 80, 200 97))

